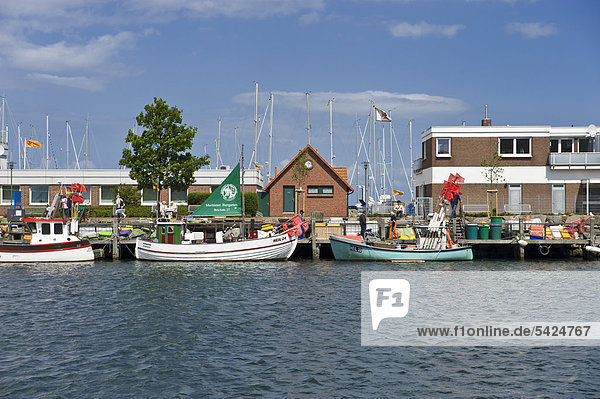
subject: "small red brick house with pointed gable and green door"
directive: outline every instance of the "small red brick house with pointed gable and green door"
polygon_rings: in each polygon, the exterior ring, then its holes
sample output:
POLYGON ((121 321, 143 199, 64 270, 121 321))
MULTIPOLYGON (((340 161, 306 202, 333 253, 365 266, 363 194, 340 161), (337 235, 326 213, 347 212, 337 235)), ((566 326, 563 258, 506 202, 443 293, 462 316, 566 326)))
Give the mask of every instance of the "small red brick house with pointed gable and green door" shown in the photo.
POLYGON ((269 193, 270 215, 291 216, 301 209, 324 216, 348 216, 348 194, 354 190, 347 182, 345 167, 332 167, 310 145, 265 187, 269 193))

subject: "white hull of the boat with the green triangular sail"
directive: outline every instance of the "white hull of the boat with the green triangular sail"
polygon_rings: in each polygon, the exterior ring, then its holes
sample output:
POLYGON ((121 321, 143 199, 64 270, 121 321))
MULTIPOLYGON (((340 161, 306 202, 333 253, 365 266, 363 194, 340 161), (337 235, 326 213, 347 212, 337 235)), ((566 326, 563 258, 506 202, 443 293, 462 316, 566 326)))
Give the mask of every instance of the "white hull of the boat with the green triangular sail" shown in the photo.
POLYGON ((278 234, 254 240, 211 244, 163 244, 138 238, 135 257, 154 261, 254 261, 288 259, 298 238, 278 234))

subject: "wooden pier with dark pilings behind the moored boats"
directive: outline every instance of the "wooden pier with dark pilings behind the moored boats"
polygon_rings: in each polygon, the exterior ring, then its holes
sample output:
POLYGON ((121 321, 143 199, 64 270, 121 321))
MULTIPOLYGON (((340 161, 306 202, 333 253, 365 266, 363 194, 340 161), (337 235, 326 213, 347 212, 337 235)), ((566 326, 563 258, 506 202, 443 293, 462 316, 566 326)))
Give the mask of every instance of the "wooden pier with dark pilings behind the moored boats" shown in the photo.
MULTIPOLYGON (((329 242, 330 235, 358 235, 360 228, 358 221, 336 220, 334 222, 319 222, 313 218, 310 224, 310 230, 306 237, 299 239, 298 246, 293 255, 296 259, 333 259, 331 244, 329 242)), ((217 231, 222 231, 228 226, 239 226, 241 221, 237 219, 220 219, 207 221, 189 221, 188 228, 192 231, 203 231, 207 239, 214 239, 217 231)), ((247 222, 247 228, 250 230, 259 229, 263 224, 274 223, 273 218, 253 218, 247 222)), ((411 227, 413 225, 421 225, 424 221, 402 219, 398 228, 411 227)), ((598 254, 589 252, 585 248, 588 246, 595 247, 600 243, 600 231, 594 223, 594 218, 590 218, 585 224, 584 238, 571 239, 533 239, 528 237, 527 226, 523 218, 518 221, 510 220, 503 223, 503 226, 508 224, 518 223, 518 230, 512 231, 503 228, 502 237, 500 239, 467 239, 465 237, 463 222, 451 222, 450 234, 455 237, 455 242, 460 245, 471 246, 476 259, 496 258, 496 259, 529 259, 529 258, 570 258, 583 257, 584 259, 597 259, 598 254)), ((385 233, 388 220, 386 218, 370 219, 368 228, 376 230, 379 236, 385 233)), ((131 227, 140 229, 146 232, 154 228, 152 220, 121 220, 115 222, 111 220, 98 220, 90 223, 82 224, 83 231, 94 231, 97 235, 101 231, 120 230, 123 227, 131 227)), ((545 228, 546 226, 544 226, 545 228)), ((101 250, 103 257, 121 259, 135 257, 135 238, 118 237, 114 235, 104 238, 90 238, 90 242, 94 250, 101 250)), ((413 244, 414 240, 402 240, 405 244, 413 244)))

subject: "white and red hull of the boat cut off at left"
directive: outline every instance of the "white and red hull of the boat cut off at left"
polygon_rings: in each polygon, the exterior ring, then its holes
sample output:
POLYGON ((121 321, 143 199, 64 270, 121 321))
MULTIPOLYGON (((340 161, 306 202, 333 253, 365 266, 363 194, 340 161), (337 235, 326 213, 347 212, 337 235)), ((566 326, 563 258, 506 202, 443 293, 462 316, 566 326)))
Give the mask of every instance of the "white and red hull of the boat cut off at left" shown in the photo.
POLYGON ((0 263, 35 262, 88 262, 94 260, 94 251, 88 240, 73 240, 61 243, 0 244, 0 263))

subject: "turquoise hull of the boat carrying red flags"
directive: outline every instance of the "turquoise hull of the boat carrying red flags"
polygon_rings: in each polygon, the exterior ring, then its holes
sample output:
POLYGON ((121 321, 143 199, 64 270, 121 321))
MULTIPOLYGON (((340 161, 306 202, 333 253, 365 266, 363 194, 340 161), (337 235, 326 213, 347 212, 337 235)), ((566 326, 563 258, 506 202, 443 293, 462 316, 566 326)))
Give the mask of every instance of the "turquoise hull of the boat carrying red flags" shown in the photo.
POLYGON ((379 248, 364 242, 344 237, 331 236, 331 250, 336 260, 361 260, 361 261, 397 261, 397 262, 422 262, 422 261, 462 261, 473 260, 471 247, 458 247, 442 250, 429 250, 417 248, 379 248))

